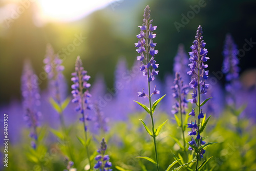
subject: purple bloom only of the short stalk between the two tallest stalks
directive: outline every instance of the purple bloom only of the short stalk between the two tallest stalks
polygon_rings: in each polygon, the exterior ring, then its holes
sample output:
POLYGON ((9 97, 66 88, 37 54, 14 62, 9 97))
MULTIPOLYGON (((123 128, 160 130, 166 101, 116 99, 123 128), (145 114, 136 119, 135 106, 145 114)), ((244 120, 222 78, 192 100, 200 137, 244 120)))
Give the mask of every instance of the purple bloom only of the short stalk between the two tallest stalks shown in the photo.
POLYGON ((173 97, 176 99, 176 102, 175 105, 173 105, 172 113, 177 114, 180 111, 181 114, 186 114, 188 86, 183 85, 183 80, 178 72, 175 74, 174 84, 175 86, 173 86, 172 89, 174 91, 173 97))

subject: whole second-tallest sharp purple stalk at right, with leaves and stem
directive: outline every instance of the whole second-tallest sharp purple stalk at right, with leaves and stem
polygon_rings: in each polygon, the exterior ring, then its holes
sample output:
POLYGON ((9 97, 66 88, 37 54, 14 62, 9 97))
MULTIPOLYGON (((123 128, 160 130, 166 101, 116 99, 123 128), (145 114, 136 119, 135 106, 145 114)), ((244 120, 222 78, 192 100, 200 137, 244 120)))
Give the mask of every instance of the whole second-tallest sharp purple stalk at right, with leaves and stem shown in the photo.
POLYGON ((196 140, 191 137, 191 141, 189 142, 189 150, 194 150, 197 156, 196 171, 198 170, 198 163, 203 157, 203 154, 205 153, 205 142, 203 141, 203 138, 200 134, 203 132, 209 119, 208 117, 208 119, 205 121, 206 116, 201 109, 201 106, 203 106, 204 103, 209 99, 206 99, 204 102, 201 103, 200 98, 201 94, 207 93, 207 89, 209 87, 209 84, 205 83, 205 80, 208 77, 208 71, 205 70, 208 65, 206 65, 205 62, 209 58, 206 57, 208 51, 204 48, 206 43, 203 40, 202 34, 202 27, 199 26, 195 37, 196 39, 193 42, 194 45, 190 47, 192 49, 192 52, 189 52, 189 60, 191 63, 189 64, 190 71, 187 72, 187 74, 191 76, 189 86, 193 89, 192 99, 189 99, 189 101, 191 103, 196 103, 196 105, 198 106, 198 113, 195 112, 195 109, 192 109, 192 111, 189 113, 189 115, 191 116, 196 116, 197 114, 198 123, 196 123, 196 121, 188 123, 188 128, 191 129, 191 132, 188 132, 188 135, 196 136, 196 140), (202 118, 203 120, 202 122, 200 122, 200 119, 202 118))

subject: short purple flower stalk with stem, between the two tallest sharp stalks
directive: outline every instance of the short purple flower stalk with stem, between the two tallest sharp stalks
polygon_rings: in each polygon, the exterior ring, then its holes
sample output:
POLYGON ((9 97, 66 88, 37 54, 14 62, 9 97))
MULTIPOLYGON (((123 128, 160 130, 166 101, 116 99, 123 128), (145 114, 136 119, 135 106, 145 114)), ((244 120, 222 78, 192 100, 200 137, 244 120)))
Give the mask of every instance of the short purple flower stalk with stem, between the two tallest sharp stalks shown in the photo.
MULTIPOLYGON (((178 126, 181 127, 182 131, 182 138, 183 138, 183 150, 185 153, 185 156, 187 158, 186 154, 186 140, 185 140, 185 125, 183 125, 183 115, 186 114, 187 109, 187 103, 188 100, 186 99, 186 95, 188 93, 188 86, 183 84, 183 79, 181 78, 180 73, 176 72, 175 79, 174 79, 175 86, 172 87, 174 93, 173 97, 176 99, 175 104, 173 105, 172 113, 175 115, 175 119, 177 120, 178 126), (176 116, 176 114, 180 113, 180 120, 176 116)), ((186 117, 185 122, 187 121, 188 117, 186 117)))

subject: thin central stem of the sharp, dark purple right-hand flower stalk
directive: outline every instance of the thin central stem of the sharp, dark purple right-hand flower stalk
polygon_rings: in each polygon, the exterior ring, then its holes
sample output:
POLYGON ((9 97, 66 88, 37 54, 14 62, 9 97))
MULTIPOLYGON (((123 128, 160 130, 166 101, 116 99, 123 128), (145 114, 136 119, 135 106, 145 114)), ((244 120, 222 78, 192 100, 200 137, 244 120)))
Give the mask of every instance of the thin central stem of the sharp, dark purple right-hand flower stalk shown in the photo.
MULTIPOLYGON (((198 71, 197 71, 197 76, 198 76, 198 85, 197 85, 197 88, 198 88, 198 114, 200 113, 200 44, 201 44, 201 40, 198 41, 198 71)), ((200 126, 200 118, 198 119, 198 125, 200 126)), ((200 129, 200 127, 198 126, 198 129, 200 129)), ((198 133, 199 134, 199 133, 198 133)), ((200 141, 198 140, 197 141, 197 146, 199 147, 199 143, 200 141)), ((196 165, 196 171, 197 171, 197 167, 198 167, 198 160, 200 158, 199 156, 199 153, 197 153, 197 165, 196 165)))

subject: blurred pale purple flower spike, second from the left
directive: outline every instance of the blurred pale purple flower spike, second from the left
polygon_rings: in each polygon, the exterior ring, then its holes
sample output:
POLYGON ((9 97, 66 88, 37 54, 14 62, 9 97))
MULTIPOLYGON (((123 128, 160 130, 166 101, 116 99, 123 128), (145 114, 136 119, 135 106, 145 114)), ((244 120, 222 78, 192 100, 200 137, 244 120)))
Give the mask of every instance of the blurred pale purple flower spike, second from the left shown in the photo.
POLYGON ((45 71, 48 74, 49 89, 52 98, 60 103, 65 99, 66 80, 62 74, 64 67, 61 66, 62 60, 57 54, 54 54, 50 44, 47 45, 46 56, 44 59, 45 71))

